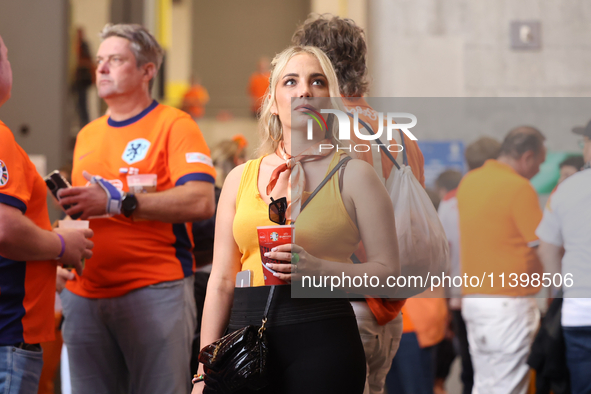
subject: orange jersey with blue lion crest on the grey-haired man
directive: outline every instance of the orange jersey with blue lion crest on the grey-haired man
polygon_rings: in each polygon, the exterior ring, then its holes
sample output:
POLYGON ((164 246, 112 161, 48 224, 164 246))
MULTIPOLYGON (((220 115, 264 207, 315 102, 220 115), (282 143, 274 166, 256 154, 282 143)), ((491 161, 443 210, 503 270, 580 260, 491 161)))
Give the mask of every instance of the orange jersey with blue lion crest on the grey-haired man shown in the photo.
MULTIPOLYGON (((100 175, 129 191, 128 175, 154 174, 156 191, 189 181, 215 182, 209 149, 191 117, 154 101, 142 113, 116 122, 103 116, 84 127, 74 149, 73 186, 100 175)), ((118 297, 194 272, 190 224, 134 221, 117 215, 90 220, 94 256, 68 289, 83 297, 118 297)))

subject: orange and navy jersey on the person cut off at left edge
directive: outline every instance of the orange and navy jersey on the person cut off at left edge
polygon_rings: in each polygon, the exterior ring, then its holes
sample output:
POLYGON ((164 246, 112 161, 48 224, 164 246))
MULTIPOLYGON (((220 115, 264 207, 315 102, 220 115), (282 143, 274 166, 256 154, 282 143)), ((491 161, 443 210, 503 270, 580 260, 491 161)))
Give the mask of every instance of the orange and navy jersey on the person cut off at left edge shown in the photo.
MULTIPOLYGON (((19 209, 37 226, 51 231, 45 182, 1 121, 0 203, 19 209)), ((53 340, 55 270, 55 261, 0 256, 0 346, 53 340)))

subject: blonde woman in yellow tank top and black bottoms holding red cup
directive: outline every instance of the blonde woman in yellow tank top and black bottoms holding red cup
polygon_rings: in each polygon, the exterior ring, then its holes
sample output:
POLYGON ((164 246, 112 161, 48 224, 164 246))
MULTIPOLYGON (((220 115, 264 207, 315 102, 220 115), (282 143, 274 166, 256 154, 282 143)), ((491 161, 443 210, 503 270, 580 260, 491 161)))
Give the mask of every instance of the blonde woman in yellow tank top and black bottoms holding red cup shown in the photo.
MULTIPOLYGON (((268 218, 271 198, 289 197, 288 219, 295 219, 309 192, 342 156, 335 150, 319 152, 321 143, 337 143, 332 128, 314 129, 308 140, 305 128, 296 127, 308 119, 299 111, 298 102, 339 97, 337 78, 326 55, 315 47, 291 47, 277 55, 272 66, 261 111, 260 157, 236 167, 226 178, 220 197, 203 344, 222 337, 226 328, 260 325, 270 287, 264 286, 256 227, 274 224, 268 218), (290 158, 291 170, 281 171, 290 158), (297 183, 298 171, 304 184, 301 195, 298 188, 288 187, 290 182, 297 183), (241 270, 253 271, 253 287, 234 288, 241 270)), ((399 273, 392 204, 367 163, 349 162, 342 191, 337 174, 297 219, 298 244, 283 245, 268 254, 285 262, 270 267, 280 272, 280 279, 291 280, 292 253, 298 254, 300 267, 326 275, 340 274, 343 267, 348 275, 362 276, 369 270, 382 275, 399 273), (346 264, 351 263, 349 257, 361 240, 370 262, 346 264)), ((267 338, 271 382, 257 393, 363 392, 365 356, 347 299, 292 299, 290 286, 277 286, 267 338)), ((203 373, 203 366, 198 373, 203 373)), ((203 390, 204 383, 197 383, 193 393, 203 390)))

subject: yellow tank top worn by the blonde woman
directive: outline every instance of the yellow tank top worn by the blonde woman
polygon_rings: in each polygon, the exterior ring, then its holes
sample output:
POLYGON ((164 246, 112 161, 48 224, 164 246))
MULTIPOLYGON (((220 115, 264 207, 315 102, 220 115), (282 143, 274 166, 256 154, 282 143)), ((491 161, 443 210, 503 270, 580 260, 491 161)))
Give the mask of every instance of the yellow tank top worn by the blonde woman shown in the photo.
MULTIPOLYGON (((341 154, 333 155, 327 175, 341 157, 341 154)), ((258 190, 262 160, 262 157, 250 160, 244 167, 236 195, 236 215, 232 228, 234 240, 242 254, 242 270, 253 272, 253 286, 265 284, 257 227, 275 224, 269 220, 269 206, 258 190)), ((335 174, 300 213, 295 226, 295 243, 317 258, 352 263, 350 257, 361 237, 341 198, 338 176, 338 173, 335 174)), ((304 198, 309 195, 304 193, 304 198)))

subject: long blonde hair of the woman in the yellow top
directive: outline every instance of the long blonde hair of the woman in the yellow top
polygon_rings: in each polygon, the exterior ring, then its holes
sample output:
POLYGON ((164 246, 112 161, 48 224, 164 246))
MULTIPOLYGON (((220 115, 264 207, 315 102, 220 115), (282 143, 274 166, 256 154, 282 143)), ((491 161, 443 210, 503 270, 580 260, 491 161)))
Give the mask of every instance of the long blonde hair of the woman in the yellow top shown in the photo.
MULTIPOLYGON (((332 63, 324 52, 316 47, 311 46, 292 46, 285 49, 283 52, 273 58, 271 62, 271 77, 269 78, 269 89, 265 94, 265 99, 261 106, 261 116, 259 118, 259 133, 261 138, 261 145, 257 149, 257 156, 263 156, 273 153, 277 150, 279 143, 283 140, 283 128, 278 116, 272 116, 271 107, 275 103, 275 91, 277 83, 287 66, 287 63, 296 55, 308 54, 318 59, 320 67, 326 75, 328 81, 328 92, 331 97, 333 108, 345 111, 340 99, 339 82, 332 66, 332 63)), ((334 115, 328 117, 328 130, 330 138, 334 143, 338 143, 337 123, 333 120, 334 115)))

